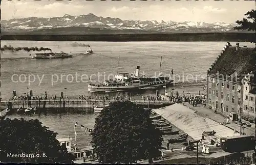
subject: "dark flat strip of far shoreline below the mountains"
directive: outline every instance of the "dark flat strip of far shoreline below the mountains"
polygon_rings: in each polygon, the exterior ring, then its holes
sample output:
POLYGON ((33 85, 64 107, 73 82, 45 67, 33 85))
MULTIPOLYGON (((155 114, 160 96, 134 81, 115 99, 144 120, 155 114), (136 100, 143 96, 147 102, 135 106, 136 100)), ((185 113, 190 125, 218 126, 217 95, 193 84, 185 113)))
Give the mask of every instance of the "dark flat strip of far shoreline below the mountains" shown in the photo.
POLYGON ((249 42, 254 33, 92 34, 92 35, 1 35, 1 40, 28 41, 230 41, 249 42))

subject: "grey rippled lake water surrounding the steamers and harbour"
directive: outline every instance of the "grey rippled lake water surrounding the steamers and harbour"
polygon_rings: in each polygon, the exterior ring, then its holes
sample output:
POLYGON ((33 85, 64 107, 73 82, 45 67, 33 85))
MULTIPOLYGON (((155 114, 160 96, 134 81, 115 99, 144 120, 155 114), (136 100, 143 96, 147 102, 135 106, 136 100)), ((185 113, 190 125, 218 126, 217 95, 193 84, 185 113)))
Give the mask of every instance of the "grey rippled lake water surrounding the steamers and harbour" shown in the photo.
MULTIPOLYGON (((160 58, 162 57, 163 65, 161 71, 163 74, 169 74, 173 69, 174 74, 179 75, 206 75, 208 68, 219 56, 225 42, 79 42, 91 45, 94 54, 83 55, 87 47, 74 47, 73 42, 48 42, 48 41, 1 41, 1 46, 11 45, 13 47, 49 47, 53 52, 64 51, 73 54, 73 58, 69 59, 28 59, 33 51, 1 51, 1 98, 3 100, 12 97, 12 91, 16 90, 17 94, 24 95, 29 90, 33 90, 34 95, 42 95, 47 91, 48 96, 60 96, 60 92, 67 92, 68 96, 77 97, 78 95, 88 95, 88 80, 82 82, 79 79, 71 82, 71 79, 66 79, 60 76, 71 74, 75 77, 76 73, 81 74, 105 74, 106 77, 110 74, 116 74, 118 56, 119 72, 134 73, 137 66, 140 66, 140 73, 146 75, 154 75, 159 73, 160 58), (10 59, 12 58, 12 59, 10 59), (13 60, 13 58, 22 58, 13 60), (13 82, 18 80, 19 75, 34 74, 40 78, 44 78, 39 84, 36 78, 30 85, 28 81, 13 82), (52 84, 52 75, 54 83, 52 84), (59 80, 57 81, 57 78, 59 80), (29 88, 29 89, 28 89, 29 88), (65 90, 67 88, 67 90, 65 90)), ((235 43, 231 43, 235 45, 235 43)), ((251 43, 240 43, 241 46, 253 46, 251 43)), ((23 76, 24 76, 23 75, 23 76)), ((24 77, 22 77, 24 80, 24 77)), ((69 77, 71 78, 71 76, 69 77)), ((102 81, 103 76, 97 80, 96 76, 91 77, 92 81, 102 81)), ((195 79, 193 77, 192 79, 195 79)), ((33 80, 33 79, 31 79, 33 80)), ((192 83, 193 85, 193 83, 192 83)), ((167 90, 171 91, 170 87, 167 90)), ((200 87, 201 88, 201 87, 200 87)), ((163 89, 162 91, 163 92, 163 89)), ((132 97, 141 98, 142 95, 155 95, 155 90, 144 90, 143 92, 134 92, 132 97)), ((110 94, 109 94, 110 95, 110 94)), ((112 95, 112 94, 111 94, 112 95)), ((77 121, 87 127, 94 126, 95 115, 75 115, 75 114, 60 114, 60 115, 40 115, 31 116, 13 115, 10 118, 25 118, 39 119, 44 125, 50 127, 51 130, 59 133, 58 137, 67 137, 69 134, 74 134, 73 121, 77 121)), ((77 140, 91 141, 91 137, 77 128, 77 140)), ((79 144, 79 143, 78 143, 79 144)))

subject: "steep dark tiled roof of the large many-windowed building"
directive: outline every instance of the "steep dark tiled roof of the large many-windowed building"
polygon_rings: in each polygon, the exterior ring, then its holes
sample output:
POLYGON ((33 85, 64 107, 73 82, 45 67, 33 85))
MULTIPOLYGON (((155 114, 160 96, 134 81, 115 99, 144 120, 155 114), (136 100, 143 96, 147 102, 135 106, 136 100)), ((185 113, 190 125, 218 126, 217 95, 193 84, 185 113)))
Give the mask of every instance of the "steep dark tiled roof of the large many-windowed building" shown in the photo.
POLYGON ((240 82, 244 74, 250 71, 255 73, 255 56, 254 47, 240 47, 238 51, 236 46, 227 47, 217 61, 212 64, 208 75, 217 77, 217 73, 219 73, 220 78, 240 82), (234 76, 236 73, 237 80, 234 76))

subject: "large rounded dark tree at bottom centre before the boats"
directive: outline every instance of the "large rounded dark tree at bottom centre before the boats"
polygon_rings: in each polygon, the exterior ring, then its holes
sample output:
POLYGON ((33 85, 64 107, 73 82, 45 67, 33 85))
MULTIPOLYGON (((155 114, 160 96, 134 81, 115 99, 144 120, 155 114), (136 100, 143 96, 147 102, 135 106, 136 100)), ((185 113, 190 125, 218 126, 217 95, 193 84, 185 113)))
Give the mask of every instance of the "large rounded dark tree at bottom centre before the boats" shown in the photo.
POLYGON ((130 101, 104 107, 91 133, 94 152, 105 163, 136 163, 160 155, 162 131, 152 124, 150 113, 130 101))

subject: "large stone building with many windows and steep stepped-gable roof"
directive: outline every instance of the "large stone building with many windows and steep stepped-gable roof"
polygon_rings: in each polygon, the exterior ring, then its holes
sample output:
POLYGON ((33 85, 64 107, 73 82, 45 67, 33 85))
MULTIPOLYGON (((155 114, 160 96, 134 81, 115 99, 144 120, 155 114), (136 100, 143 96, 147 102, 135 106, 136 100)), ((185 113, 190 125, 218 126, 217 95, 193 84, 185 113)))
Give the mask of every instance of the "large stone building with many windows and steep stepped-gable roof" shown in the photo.
MULTIPOLYGON (((225 45, 217 60, 207 71, 206 105, 208 108, 226 116, 230 112, 240 114, 240 108, 244 107, 243 81, 248 73, 255 73, 255 55, 254 47, 240 47, 239 43, 232 46, 229 42, 225 45)), ((247 87, 248 90, 250 87, 247 87)), ((255 115, 247 118, 253 119, 255 115)))

